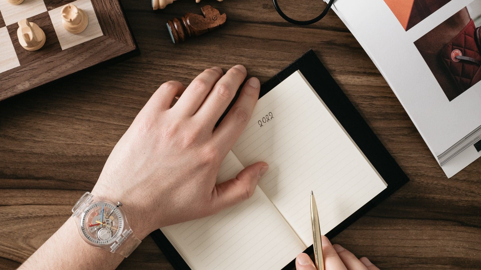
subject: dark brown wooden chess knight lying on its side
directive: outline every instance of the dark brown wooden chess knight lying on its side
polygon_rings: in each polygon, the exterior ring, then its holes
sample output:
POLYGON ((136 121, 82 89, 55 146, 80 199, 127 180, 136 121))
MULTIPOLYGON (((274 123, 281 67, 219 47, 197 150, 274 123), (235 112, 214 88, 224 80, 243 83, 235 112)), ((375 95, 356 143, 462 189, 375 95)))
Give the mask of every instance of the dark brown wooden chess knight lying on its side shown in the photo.
POLYGON ((201 10, 203 15, 189 12, 180 19, 174 18, 167 21, 167 29, 170 37, 172 37, 172 42, 179 43, 189 37, 196 37, 210 32, 224 25, 227 20, 226 13, 221 15, 212 6, 203 6, 201 10))

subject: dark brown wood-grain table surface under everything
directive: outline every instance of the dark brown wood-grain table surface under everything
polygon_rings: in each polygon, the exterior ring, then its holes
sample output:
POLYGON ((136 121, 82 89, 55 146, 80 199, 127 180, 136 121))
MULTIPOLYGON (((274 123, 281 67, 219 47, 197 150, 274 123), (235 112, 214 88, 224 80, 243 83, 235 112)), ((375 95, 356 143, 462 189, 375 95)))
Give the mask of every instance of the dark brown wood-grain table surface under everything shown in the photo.
MULTIPOLYGON (((188 85, 205 68, 237 63, 265 82, 309 48, 411 179, 332 242, 367 256, 380 269, 480 268, 481 160, 445 177, 380 72, 334 12, 300 27, 284 22, 270 0, 203 0, 226 12, 227 23, 174 45, 166 20, 200 12, 201 5, 179 0, 153 12, 149 0, 122 2, 139 56, 0 102, 1 269, 18 267, 70 216, 160 84, 178 80, 188 85)), ((313 1, 295 2, 296 18, 320 12, 310 7, 313 1)), ((119 268, 172 269, 150 237, 119 268)))

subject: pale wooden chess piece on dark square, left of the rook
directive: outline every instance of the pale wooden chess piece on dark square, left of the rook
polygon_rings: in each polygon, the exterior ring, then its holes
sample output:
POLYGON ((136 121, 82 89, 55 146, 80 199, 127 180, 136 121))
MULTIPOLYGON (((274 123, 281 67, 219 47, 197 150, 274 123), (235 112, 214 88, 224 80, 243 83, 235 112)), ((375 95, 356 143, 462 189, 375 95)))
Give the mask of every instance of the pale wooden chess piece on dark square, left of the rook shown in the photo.
POLYGON ((30 23, 26 19, 18 22, 17 37, 18 42, 26 50, 38 50, 45 44, 45 32, 35 23, 30 23))

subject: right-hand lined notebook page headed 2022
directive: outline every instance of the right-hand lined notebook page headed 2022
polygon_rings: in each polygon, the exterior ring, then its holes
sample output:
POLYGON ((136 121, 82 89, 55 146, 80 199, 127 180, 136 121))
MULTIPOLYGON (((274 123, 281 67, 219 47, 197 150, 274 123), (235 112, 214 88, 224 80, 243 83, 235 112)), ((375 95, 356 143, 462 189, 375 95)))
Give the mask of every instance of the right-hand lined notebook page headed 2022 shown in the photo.
POLYGON ((259 99, 232 151, 269 164, 259 186, 306 246, 311 190, 327 233, 386 188, 299 71, 259 99))

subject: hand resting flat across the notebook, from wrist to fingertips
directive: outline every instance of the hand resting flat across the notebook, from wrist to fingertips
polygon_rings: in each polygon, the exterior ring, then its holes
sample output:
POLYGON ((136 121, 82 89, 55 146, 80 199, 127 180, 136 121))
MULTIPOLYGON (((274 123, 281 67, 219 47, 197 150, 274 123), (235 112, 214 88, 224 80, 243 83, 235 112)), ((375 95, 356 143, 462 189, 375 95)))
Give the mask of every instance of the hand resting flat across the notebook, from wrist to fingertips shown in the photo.
POLYGON ((214 67, 187 88, 176 81, 163 84, 114 147, 92 194, 121 201, 140 239, 157 228, 212 215, 253 194, 267 170, 265 162, 215 184, 222 160, 259 97, 259 80, 250 78, 215 128, 246 75, 242 65, 226 74, 214 67))

